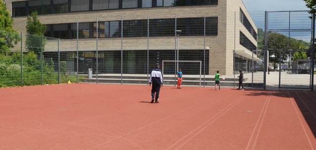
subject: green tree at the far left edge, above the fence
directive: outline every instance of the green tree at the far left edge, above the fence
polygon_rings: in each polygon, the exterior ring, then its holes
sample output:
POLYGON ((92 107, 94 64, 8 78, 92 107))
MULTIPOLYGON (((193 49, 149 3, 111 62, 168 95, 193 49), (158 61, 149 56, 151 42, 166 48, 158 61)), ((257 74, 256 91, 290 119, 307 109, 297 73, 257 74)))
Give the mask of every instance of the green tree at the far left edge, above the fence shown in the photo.
POLYGON ((10 53, 10 48, 14 47, 20 38, 19 34, 13 29, 13 19, 6 9, 4 1, 0 1, 0 54, 10 53))

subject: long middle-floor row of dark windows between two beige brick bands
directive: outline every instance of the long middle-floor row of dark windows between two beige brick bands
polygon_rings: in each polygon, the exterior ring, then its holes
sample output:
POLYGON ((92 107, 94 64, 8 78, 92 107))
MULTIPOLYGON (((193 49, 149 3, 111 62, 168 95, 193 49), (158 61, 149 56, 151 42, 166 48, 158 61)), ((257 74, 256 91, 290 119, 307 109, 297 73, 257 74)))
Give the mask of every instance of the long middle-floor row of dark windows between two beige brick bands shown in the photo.
MULTIPOLYGON (((47 37, 71 39, 77 38, 77 29, 79 38, 120 38, 121 30, 123 37, 147 37, 148 28, 150 37, 172 37, 175 36, 175 26, 182 30, 181 36, 204 36, 204 17, 198 18, 177 18, 175 19, 150 19, 149 26, 147 19, 144 20, 123 20, 121 21, 103 21, 69 23, 69 24, 51 24, 46 25, 47 37), (175 25, 177 24, 177 25, 175 25), (122 27, 121 27, 122 26, 122 27), (98 27, 98 28, 97 28, 98 27), (98 32, 97 30, 98 29, 98 32)), ((205 18, 205 35, 217 36, 218 17, 205 18)))

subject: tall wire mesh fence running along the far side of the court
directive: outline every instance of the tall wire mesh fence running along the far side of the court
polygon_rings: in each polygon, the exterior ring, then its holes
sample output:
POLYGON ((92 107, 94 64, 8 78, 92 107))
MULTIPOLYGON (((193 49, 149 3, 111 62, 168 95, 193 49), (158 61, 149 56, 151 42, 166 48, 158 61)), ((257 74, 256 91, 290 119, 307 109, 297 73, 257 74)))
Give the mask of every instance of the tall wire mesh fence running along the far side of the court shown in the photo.
MULTIPOLYGON (((0 61, 7 68, 2 75, 10 80, 1 84, 68 81, 147 84, 155 64, 164 60, 172 61, 163 68, 165 83, 170 85, 175 84, 179 68, 184 75, 183 84, 197 85, 200 66, 192 62, 201 61, 202 86, 214 86, 214 75, 219 71, 226 78, 221 81, 222 86, 236 87, 241 70, 247 87, 313 89, 311 39, 315 32, 310 16, 307 11, 250 14, 240 11, 225 16, 166 13, 144 14, 136 19, 120 15, 76 18, 73 23, 47 25, 53 30, 46 35, 60 39, 18 34, 19 38, 9 48, 14 52, 11 56, 18 59, 0 61), (29 55, 36 58, 32 59, 35 62, 29 60, 29 55), (310 62, 302 65, 306 61, 295 62, 294 56, 310 62), (272 68, 268 70, 269 64, 272 68), (8 71, 12 65, 16 68, 15 76, 8 71), (28 66, 36 73, 29 73, 28 66), (276 74, 274 79, 270 78, 272 74, 276 74), (309 76, 309 86, 292 84, 291 80, 301 76, 309 76)), ((303 80, 306 79, 298 82, 303 80)))

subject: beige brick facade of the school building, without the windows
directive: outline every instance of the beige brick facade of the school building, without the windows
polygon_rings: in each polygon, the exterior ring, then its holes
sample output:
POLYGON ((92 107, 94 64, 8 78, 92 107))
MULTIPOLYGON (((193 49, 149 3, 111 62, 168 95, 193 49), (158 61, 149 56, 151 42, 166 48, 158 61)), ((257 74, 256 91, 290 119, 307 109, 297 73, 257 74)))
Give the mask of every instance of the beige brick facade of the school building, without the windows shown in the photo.
MULTIPOLYGON (((7 0, 7 8, 11 12, 12 1, 7 0)), ((222 75, 233 74, 233 50, 249 51, 239 44, 239 31, 247 33, 246 36, 257 45, 254 39, 245 27, 238 20, 239 9, 247 15, 255 28, 244 4, 241 0, 218 0, 218 5, 207 6, 179 6, 179 7, 157 7, 157 8, 135 8, 135 9, 116 9, 71 12, 62 14, 39 15, 42 24, 61 24, 79 22, 98 21, 118 21, 118 20, 139 20, 139 19, 158 19, 158 18, 183 18, 183 17, 218 17, 218 35, 206 36, 205 49, 209 49, 209 73, 215 74, 217 70, 222 75), (236 23, 235 18, 236 12, 236 23), (235 26, 236 24, 236 26, 235 26), (236 32, 235 32, 236 31, 236 32), (235 34, 236 35, 235 35, 235 34)), ((14 17, 14 28, 18 32, 26 33, 26 16, 14 17)), ((123 38, 123 50, 147 50, 147 37, 143 38, 123 38)), ((156 37, 149 39, 149 50, 172 50, 175 49, 175 37, 156 37)), ((47 43, 45 51, 56 51, 54 43, 47 43)), ((179 50, 181 49, 204 49, 203 37, 181 37, 179 38, 179 50)), ((61 39, 60 51, 76 51, 76 39, 61 39)), ((79 51, 95 51, 95 39, 79 39, 79 51)), ((98 41, 98 50, 121 50, 121 38, 100 38, 98 41)))

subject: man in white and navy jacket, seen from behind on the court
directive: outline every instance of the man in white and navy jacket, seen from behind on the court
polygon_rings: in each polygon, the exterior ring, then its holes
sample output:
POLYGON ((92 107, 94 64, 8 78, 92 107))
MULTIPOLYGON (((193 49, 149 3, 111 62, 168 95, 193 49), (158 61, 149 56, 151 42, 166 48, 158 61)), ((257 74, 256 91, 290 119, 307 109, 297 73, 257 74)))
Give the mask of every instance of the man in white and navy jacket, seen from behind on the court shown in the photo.
POLYGON ((158 99, 159 99, 160 85, 162 87, 162 74, 159 67, 160 67, 159 64, 156 64, 156 69, 154 69, 152 73, 150 74, 149 86, 151 86, 151 84, 153 83, 151 103, 154 103, 154 100, 155 100, 155 103, 159 103, 158 99), (156 92, 156 98, 155 98, 155 92, 156 92))

